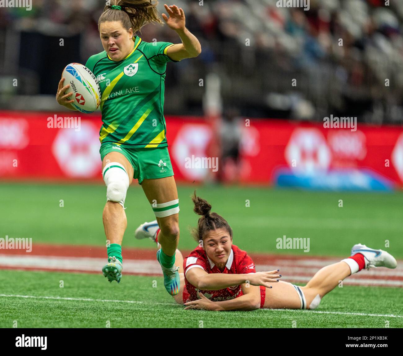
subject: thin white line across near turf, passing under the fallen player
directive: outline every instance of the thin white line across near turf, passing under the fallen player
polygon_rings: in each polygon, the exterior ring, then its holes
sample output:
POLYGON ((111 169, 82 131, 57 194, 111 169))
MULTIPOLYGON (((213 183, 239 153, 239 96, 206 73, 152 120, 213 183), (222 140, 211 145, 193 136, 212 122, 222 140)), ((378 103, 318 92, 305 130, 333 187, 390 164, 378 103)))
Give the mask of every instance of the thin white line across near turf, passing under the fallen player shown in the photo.
MULTIPOLYGON (((52 299, 52 300, 81 300, 84 302, 116 302, 116 303, 132 303, 132 304, 158 304, 158 305, 178 305, 177 303, 161 303, 161 302, 143 302, 140 300, 111 300, 111 299, 92 299, 92 298, 68 298, 68 297, 52 297, 52 296, 23 296, 19 294, 0 294, 0 297, 6 298, 37 298, 37 299, 52 299)), ((401 315, 393 314, 366 314, 366 313, 348 313, 348 312, 330 312, 320 310, 301 310, 301 309, 261 309, 261 310, 277 310, 277 311, 293 311, 304 313, 317 314, 339 314, 339 315, 358 315, 363 317, 388 317, 388 318, 403 318, 401 315)))

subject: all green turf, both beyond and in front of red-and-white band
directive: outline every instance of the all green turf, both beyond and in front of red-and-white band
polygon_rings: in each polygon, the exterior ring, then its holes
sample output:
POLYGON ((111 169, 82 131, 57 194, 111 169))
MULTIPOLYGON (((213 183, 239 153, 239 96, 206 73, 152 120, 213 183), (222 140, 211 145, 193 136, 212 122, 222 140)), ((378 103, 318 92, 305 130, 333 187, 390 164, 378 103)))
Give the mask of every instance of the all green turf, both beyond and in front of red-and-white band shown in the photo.
MULTIPOLYGON (((188 228, 197 224, 189 198, 194 186, 179 186, 179 248, 195 247, 188 228)), ((233 243, 249 253, 304 254, 277 250, 276 239, 310 238, 310 253, 347 257, 364 243, 403 259, 403 195, 394 193, 304 192, 251 187, 200 186, 197 194, 229 221, 233 243), (339 200, 343 207, 339 207, 339 200), (245 201, 250 207, 245 206, 245 201)), ((33 243, 104 246, 102 185, 0 184, 0 237, 33 243), (60 207, 63 200, 64 207, 60 207)), ((123 247, 151 248, 133 237, 154 219, 142 189, 133 184, 126 199, 128 229, 123 247)), ((403 288, 344 286, 316 310, 255 310, 216 313, 183 310, 174 304, 162 277, 125 275, 119 285, 100 274, 0 271, 0 327, 403 327, 403 288), (60 288, 60 280, 64 288, 60 288), (152 288, 157 280, 158 288, 152 288), (19 296, 16 296, 19 295, 19 296), (23 298, 36 296, 48 298, 23 298), (49 298, 50 297, 50 298, 49 298), (55 299, 55 298, 67 299, 55 299), (68 299, 73 298, 73 299, 68 299), (89 299, 89 300, 88 300, 89 299), (118 300, 118 301, 106 301, 118 300), (351 313, 363 313, 353 315, 351 313), (202 322, 202 324, 201 324, 202 322)))

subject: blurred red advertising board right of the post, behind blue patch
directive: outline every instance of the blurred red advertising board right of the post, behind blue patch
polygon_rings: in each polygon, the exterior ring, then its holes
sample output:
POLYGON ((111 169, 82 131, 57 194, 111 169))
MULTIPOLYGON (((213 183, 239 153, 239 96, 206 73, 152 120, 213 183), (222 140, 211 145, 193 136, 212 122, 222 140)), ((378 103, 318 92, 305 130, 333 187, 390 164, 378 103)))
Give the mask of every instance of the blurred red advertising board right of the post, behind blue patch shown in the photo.
POLYGON ((370 169, 401 185, 403 128, 357 124, 357 129, 323 124, 251 119, 243 127, 242 181, 271 183, 276 171, 301 174, 370 169))

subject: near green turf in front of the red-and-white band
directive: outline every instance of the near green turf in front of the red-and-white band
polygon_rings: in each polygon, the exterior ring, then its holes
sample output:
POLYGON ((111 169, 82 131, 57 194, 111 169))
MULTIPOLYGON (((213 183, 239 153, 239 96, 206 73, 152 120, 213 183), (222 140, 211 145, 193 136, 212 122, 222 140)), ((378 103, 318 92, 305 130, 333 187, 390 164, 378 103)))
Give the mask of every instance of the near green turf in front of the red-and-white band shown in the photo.
POLYGON ((102 275, 2 271, 2 294, 76 298, 0 297, 0 327, 403 327, 401 288, 344 286, 326 295, 316 310, 211 312, 174 303, 162 277, 126 275, 118 285, 102 275), (64 287, 60 288, 60 281, 64 287), (153 280, 157 288, 153 288, 153 280), (10 283, 12 281, 12 283, 10 283), (6 290, 6 292, 5 292, 6 290), (91 299, 91 300, 81 300, 91 299), (106 301, 109 300, 109 301, 106 301), (119 300, 119 301, 116 301, 119 300), (131 302, 127 302, 131 301, 131 302), (371 307, 368 308, 368 305, 371 307), (330 312, 330 313, 326 313, 330 312), (351 315, 349 313, 365 315, 351 315), (372 315, 368 315, 372 314, 372 315))

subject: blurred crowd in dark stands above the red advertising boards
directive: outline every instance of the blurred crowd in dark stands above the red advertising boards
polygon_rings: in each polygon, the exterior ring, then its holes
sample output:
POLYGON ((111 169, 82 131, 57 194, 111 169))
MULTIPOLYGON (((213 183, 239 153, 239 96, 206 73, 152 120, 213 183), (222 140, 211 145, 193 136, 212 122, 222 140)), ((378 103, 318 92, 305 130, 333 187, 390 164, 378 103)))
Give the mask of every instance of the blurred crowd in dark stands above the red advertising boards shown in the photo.
MULTIPOLYGON (((403 122, 403 0, 311 0, 308 11, 276 3, 167 3, 183 8, 202 54, 167 65, 165 113, 202 115, 199 79, 216 73, 223 110, 236 108, 241 116, 403 122)), ((103 6, 97 0, 33 0, 31 11, 1 8, 0 48, 6 50, 0 50, 0 76, 28 76, 19 94, 53 94, 45 71, 52 67, 57 83, 67 63, 85 63, 103 50, 97 25, 103 6), (16 41, 17 65, 7 57, 16 41)), ((165 12, 164 2, 158 10, 165 12)), ((138 35, 180 42, 166 25, 146 25, 138 35)))

